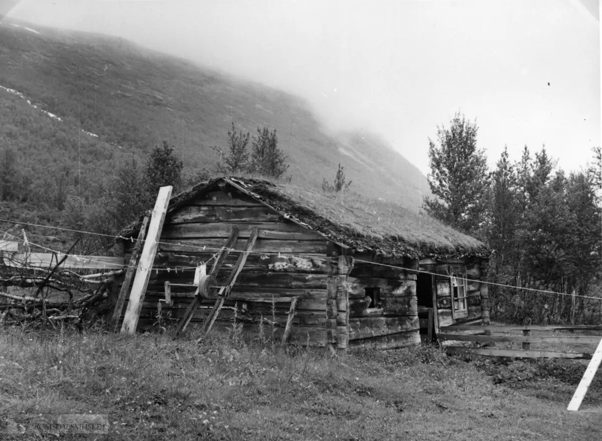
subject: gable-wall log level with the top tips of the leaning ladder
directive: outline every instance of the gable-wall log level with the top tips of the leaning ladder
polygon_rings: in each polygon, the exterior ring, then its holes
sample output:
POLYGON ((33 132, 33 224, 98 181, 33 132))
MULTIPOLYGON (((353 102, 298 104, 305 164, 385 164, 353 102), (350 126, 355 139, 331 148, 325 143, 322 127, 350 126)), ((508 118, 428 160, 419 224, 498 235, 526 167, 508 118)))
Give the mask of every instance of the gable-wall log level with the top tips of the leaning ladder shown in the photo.
POLYGON ((166 225, 161 234, 164 239, 225 239, 230 235, 232 227, 237 226, 240 233, 239 238, 250 236, 253 228, 259 229, 259 239, 280 240, 326 240, 320 234, 311 230, 303 230, 293 222, 260 222, 243 223, 215 222, 208 224, 171 224, 166 225))

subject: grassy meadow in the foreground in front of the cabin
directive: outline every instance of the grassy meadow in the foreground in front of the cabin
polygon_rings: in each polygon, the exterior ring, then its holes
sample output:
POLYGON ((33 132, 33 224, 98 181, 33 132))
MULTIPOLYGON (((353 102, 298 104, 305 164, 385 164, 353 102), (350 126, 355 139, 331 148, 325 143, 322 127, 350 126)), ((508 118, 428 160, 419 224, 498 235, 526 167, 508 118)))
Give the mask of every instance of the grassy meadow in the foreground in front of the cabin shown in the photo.
POLYGON ((470 360, 435 347, 337 359, 235 332, 197 346, 192 333, 3 328, 2 424, 108 413, 108 436, 87 439, 111 440, 598 440, 602 431, 602 373, 585 411, 565 410, 583 361, 470 360))

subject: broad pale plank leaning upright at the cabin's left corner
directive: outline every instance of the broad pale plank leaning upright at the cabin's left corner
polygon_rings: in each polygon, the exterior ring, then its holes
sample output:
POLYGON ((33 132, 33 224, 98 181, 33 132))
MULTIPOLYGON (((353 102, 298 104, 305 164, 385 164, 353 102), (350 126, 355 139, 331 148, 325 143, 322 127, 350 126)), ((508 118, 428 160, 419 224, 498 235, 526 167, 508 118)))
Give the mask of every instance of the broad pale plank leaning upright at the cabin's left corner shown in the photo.
POLYGON ((149 224, 149 232, 146 235, 146 242, 138 261, 138 270, 132 283, 132 291, 129 293, 128 308, 125 310, 123 317, 123 325, 121 327, 122 334, 134 334, 138 326, 138 318, 142 309, 142 301, 146 293, 146 287, 149 283, 152 265, 155 261, 157 253, 157 241, 161 237, 163 230, 163 222, 169 205, 169 198, 172 195, 172 186, 161 187, 155 208, 152 210, 151 223, 149 224))

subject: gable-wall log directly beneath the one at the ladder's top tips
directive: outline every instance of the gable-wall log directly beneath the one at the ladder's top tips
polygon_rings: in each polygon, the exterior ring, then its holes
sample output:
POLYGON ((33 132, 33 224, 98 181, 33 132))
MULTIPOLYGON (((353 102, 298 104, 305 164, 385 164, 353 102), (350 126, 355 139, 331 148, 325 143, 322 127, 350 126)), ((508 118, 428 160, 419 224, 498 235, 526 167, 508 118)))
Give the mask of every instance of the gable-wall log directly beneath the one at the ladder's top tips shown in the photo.
MULTIPOLYGON (((160 252, 202 252, 218 251, 223 245, 223 239, 161 239, 159 243, 160 252)), ((243 251, 246 241, 237 240, 232 246, 236 251, 243 251)), ((253 252, 282 253, 282 254, 319 254, 326 255, 327 241, 320 240, 276 240, 258 239, 253 247, 253 252)))

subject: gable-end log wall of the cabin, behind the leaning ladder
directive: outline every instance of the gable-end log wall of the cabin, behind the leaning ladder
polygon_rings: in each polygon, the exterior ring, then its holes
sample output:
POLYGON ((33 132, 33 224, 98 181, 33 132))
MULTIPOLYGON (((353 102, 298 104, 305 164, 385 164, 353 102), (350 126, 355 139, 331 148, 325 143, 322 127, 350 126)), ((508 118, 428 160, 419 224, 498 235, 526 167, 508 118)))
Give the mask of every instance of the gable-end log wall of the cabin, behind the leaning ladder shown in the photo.
MULTIPOLYGON (((312 345, 326 344, 326 284, 330 262, 326 258, 327 240, 311 230, 284 219, 278 212, 234 192, 212 192, 197 198, 170 213, 158 245, 157 256, 147 287, 140 320, 146 324, 157 320, 158 302, 164 299, 164 283, 192 284, 194 267, 208 262, 225 244, 232 228, 239 230, 233 248, 243 250, 253 228, 259 228, 258 239, 216 321, 218 328, 232 328, 236 321, 243 329, 258 333, 261 317, 275 321, 275 335, 284 332, 290 302, 272 304, 253 299, 299 296, 291 336, 305 342, 309 335, 312 345), (203 249, 204 248, 204 249, 203 249), (176 268, 180 268, 176 271, 176 268), (181 269, 188 267, 188 269, 181 269), (241 299, 242 298, 242 299, 241 299)), ((132 245, 125 242, 125 257, 132 245)), ((231 252, 219 274, 217 284, 223 283, 238 259, 231 252)), ((194 287, 172 287, 173 306, 161 304, 161 314, 167 321, 177 322, 193 298, 194 287)), ((213 294, 215 295, 215 293, 213 294)), ((205 300, 192 320, 202 321, 214 301, 205 300)), ((264 330, 272 325, 265 322, 264 330)))

